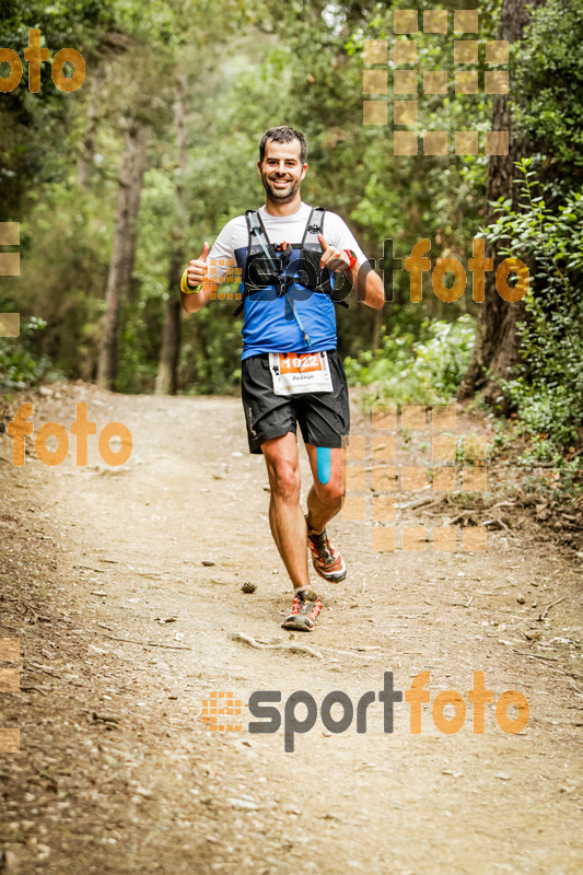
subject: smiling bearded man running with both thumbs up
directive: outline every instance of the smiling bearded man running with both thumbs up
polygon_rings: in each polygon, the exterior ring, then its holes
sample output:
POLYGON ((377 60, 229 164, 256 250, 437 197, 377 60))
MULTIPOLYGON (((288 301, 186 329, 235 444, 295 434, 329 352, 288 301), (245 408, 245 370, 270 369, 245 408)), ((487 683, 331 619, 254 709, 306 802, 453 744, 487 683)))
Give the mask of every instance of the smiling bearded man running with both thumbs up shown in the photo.
MULTIPOLYGON (((215 258, 226 259, 242 270, 241 385, 249 452, 265 456, 271 534, 294 588, 282 627, 308 632, 322 600, 310 585, 307 547, 320 578, 338 583, 347 573, 326 533, 341 505, 341 446, 350 425, 346 375, 336 349, 335 272, 343 271, 369 306, 382 307, 384 293, 370 264, 360 270, 368 259, 342 219, 301 200, 306 155, 306 140, 293 128, 271 128, 264 135, 257 165, 265 206, 228 222, 210 258, 211 265, 215 258), (314 478, 305 517, 298 422, 314 478)), ((187 313, 199 311, 217 288, 208 281, 208 258, 205 243, 200 258, 183 275, 180 298, 187 313)), ((224 276, 224 264, 212 267, 213 279, 221 270, 224 276)))

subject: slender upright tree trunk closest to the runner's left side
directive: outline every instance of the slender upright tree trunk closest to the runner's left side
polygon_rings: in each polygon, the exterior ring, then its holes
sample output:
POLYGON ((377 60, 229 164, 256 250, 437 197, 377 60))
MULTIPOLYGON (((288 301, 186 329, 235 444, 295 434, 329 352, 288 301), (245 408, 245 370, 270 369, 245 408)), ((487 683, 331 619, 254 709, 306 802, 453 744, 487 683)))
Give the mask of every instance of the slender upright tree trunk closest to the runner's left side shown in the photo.
POLYGON ((188 80, 184 72, 176 71, 174 92, 174 131, 176 143, 177 179, 175 188, 176 222, 171 238, 168 266, 168 298, 164 312, 164 329, 158 365, 156 395, 175 395, 177 389, 178 359, 180 355, 180 299, 178 287, 184 269, 186 214, 186 96, 188 80))

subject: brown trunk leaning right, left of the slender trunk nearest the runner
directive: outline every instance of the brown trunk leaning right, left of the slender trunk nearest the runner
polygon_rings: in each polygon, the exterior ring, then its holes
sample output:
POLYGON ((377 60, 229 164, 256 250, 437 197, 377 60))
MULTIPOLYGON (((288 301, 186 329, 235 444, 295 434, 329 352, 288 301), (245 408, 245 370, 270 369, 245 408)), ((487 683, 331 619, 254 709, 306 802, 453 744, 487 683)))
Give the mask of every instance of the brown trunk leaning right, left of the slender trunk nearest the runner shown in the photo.
POLYGON ((97 384, 107 389, 114 389, 117 377, 119 304, 124 295, 129 292, 133 271, 136 223, 140 209, 149 133, 148 125, 138 118, 132 118, 126 129, 97 371, 97 384))

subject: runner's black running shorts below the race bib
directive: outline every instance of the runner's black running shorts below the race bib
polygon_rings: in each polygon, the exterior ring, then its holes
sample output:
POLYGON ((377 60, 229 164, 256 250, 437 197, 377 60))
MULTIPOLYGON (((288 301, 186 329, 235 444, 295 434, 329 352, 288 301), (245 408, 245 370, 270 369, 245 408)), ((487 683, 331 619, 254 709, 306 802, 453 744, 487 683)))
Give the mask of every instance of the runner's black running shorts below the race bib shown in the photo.
POLYGON ((249 355, 241 363, 241 395, 250 453, 260 453, 264 441, 296 434, 298 422, 306 444, 342 446, 350 430, 348 386, 337 350, 327 350, 333 392, 275 395, 269 353, 249 355))

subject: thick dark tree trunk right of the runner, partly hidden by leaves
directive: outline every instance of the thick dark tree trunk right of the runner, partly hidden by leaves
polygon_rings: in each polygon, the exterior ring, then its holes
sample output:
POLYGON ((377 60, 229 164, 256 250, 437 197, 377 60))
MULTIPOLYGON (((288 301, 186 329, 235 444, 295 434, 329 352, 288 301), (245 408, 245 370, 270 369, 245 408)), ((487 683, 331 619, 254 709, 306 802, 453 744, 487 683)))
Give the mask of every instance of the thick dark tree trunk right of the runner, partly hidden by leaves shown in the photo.
MULTIPOLYGON (((541 0, 535 0, 532 5, 539 5, 540 2, 541 0)), ((521 39, 527 23, 525 0, 504 0, 498 38, 508 39, 509 43, 521 39)), ((509 153, 491 155, 489 159, 487 200, 490 202, 500 197, 511 198, 515 208, 520 200, 520 189, 513 182, 516 178, 514 162, 527 154, 528 147, 512 129, 510 102, 505 94, 494 97, 492 130, 509 131, 509 153)), ((493 222, 494 219, 493 211, 489 207, 485 224, 493 222)), ((486 255, 494 258, 495 268, 495 253, 488 252, 487 246, 486 255)), ((495 290, 495 270, 488 271, 485 300, 480 304, 478 316, 476 343, 469 368, 458 390, 457 397, 460 400, 481 392, 488 404, 501 402, 500 380, 508 377, 509 369, 517 361, 516 326, 523 317, 524 303, 504 301, 495 290)))

